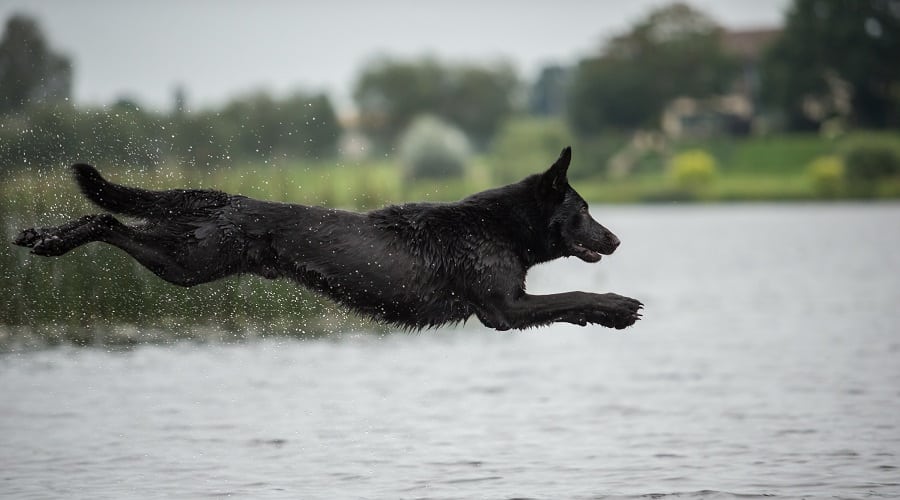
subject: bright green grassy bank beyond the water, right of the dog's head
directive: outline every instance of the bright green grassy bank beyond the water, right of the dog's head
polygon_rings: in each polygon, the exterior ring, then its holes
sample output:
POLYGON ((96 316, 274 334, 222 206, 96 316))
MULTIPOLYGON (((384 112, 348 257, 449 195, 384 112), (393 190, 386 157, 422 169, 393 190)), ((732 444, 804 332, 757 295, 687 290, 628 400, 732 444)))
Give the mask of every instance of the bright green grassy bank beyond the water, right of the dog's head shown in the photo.
POLYGON ((797 134, 672 142, 662 153, 645 153, 629 175, 609 178, 597 173, 579 180, 577 188, 585 198, 606 203, 900 198, 897 175, 880 179, 866 189, 855 189, 852 180, 836 177, 827 179, 830 184, 823 188, 820 175, 812 168, 816 161, 824 158, 841 163, 849 151, 861 145, 891 149, 900 155, 900 133, 866 132, 834 139, 797 134), (672 159, 687 151, 703 151, 715 162, 714 172, 700 185, 685 185, 673 175, 672 159))

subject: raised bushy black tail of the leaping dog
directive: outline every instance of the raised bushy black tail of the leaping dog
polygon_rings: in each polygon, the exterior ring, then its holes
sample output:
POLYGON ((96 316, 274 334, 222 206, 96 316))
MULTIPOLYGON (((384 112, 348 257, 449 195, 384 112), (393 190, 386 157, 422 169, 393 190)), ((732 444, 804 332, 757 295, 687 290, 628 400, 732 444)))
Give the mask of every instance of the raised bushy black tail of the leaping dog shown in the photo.
POLYGON ((221 191, 172 189, 149 191, 113 184, 84 163, 72 165, 81 192, 104 210, 149 219, 201 214, 228 203, 221 191))

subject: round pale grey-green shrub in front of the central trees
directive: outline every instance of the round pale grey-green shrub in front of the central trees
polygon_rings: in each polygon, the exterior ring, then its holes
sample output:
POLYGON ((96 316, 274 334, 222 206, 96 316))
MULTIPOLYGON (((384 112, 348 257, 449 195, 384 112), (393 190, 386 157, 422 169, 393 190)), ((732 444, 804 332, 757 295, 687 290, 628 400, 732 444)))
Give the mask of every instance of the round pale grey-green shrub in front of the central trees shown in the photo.
POLYGON ((465 134, 434 116, 416 118, 400 137, 400 158, 408 179, 460 177, 470 157, 465 134))

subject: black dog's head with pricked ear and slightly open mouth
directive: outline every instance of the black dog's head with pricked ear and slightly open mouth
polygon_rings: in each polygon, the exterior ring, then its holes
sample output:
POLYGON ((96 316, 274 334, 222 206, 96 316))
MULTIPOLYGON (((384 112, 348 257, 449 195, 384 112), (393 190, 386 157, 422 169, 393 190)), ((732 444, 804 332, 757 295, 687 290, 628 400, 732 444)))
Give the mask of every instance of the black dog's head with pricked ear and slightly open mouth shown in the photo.
POLYGON ((601 255, 613 253, 619 239, 591 217, 588 204, 572 186, 566 172, 572 160, 572 148, 562 150, 559 159, 539 180, 539 196, 549 203, 550 234, 557 252, 585 262, 597 262, 601 255))

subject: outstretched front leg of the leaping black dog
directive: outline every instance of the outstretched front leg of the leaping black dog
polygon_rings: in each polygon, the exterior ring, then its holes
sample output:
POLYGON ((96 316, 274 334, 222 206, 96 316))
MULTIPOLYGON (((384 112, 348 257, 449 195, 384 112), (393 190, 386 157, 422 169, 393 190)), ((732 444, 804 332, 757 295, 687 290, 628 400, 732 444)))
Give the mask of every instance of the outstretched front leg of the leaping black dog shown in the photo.
POLYGON ((555 322, 584 326, 588 323, 622 329, 640 319, 643 304, 615 293, 566 292, 551 295, 523 294, 497 300, 480 308, 478 318, 497 330, 523 329, 555 322))

